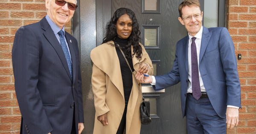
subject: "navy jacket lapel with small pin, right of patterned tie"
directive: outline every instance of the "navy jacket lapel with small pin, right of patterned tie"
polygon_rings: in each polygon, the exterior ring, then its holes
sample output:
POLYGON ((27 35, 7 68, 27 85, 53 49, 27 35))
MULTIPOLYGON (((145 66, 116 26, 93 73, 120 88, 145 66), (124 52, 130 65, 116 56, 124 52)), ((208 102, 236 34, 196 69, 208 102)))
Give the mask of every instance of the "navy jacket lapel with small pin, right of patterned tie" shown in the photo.
POLYGON ((74 81, 76 78, 75 76, 76 75, 76 53, 73 45, 75 40, 72 41, 71 37, 69 36, 69 34, 67 34, 67 32, 65 33, 65 37, 67 40, 68 47, 70 49, 71 61, 72 61, 72 75, 73 75, 73 81, 74 81))

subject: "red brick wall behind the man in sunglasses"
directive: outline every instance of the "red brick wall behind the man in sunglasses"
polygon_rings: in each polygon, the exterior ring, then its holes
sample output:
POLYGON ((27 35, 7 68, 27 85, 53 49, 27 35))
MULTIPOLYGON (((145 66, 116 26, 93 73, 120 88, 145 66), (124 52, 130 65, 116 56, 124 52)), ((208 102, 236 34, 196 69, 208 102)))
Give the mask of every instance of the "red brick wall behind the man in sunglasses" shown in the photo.
MULTIPOLYGON (((20 111, 14 89, 12 43, 15 32, 46 15, 45 0, 0 0, 0 134, 19 134, 20 111)), ((71 22, 65 25, 70 33, 71 22)))

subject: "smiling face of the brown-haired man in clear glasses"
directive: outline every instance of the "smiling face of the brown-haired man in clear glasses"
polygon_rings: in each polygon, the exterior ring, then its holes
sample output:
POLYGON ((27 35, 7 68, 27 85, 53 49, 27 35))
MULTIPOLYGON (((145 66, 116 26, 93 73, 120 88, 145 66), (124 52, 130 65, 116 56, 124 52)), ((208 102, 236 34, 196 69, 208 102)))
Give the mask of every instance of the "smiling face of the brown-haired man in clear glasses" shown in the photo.
POLYGON ((195 34, 197 34, 198 31, 201 29, 203 12, 198 6, 193 5, 183 7, 181 12, 182 18, 178 18, 180 23, 185 26, 186 30, 189 32, 189 35, 195 36, 195 34), (198 14, 200 14, 200 16, 198 16, 198 14))

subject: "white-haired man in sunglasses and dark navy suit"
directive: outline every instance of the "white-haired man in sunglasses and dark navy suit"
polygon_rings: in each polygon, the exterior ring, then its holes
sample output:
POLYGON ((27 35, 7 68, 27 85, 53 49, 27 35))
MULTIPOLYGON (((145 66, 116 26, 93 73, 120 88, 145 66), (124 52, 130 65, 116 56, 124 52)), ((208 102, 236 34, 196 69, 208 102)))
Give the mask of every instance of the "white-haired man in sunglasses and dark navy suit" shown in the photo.
POLYGON ((12 48, 20 134, 80 134, 84 128, 77 40, 64 31, 76 0, 46 0, 47 15, 17 30, 12 48))

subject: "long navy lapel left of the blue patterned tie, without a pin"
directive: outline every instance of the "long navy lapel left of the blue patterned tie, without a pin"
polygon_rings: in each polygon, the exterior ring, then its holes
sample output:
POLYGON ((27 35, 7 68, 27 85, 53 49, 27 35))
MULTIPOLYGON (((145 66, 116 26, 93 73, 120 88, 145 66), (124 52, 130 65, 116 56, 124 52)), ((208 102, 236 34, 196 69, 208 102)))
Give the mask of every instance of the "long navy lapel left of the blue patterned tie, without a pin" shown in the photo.
POLYGON ((47 22, 46 18, 44 17, 41 21, 41 28, 44 29, 44 37, 49 41, 49 43, 52 45, 52 47, 55 49, 56 53, 58 54, 62 65, 64 66, 68 76, 70 77, 70 71, 67 66, 67 60, 65 58, 64 52, 61 48, 60 43, 58 42, 58 39, 56 38, 55 34, 53 33, 51 27, 49 26, 49 23, 47 22))

